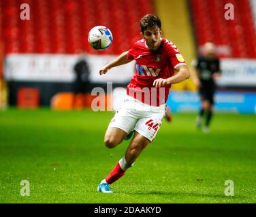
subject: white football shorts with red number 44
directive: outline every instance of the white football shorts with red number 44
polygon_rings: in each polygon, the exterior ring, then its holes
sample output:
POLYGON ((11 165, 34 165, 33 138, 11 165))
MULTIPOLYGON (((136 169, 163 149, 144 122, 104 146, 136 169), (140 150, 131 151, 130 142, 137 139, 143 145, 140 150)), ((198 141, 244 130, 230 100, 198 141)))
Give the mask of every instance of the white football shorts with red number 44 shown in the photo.
POLYGON ((123 105, 110 121, 108 127, 117 127, 129 134, 135 130, 152 142, 165 115, 165 104, 150 106, 131 96, 126 96, 123 105))

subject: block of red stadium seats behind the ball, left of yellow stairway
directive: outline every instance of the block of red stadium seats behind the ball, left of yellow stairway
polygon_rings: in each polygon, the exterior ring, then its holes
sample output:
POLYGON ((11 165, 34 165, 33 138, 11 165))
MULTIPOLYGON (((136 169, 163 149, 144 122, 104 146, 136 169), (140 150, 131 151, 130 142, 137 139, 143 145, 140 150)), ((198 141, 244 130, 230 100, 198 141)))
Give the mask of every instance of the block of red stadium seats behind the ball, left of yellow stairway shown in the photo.
POLYGON ((31 20, 20 20, 20 3, 0 1, 5 53, 98 54, 87 35, 93 26, 104 25, 112 31, 114 43, 101 54, 119 54, 138 39, 140 18, 154 12, 153 0, 27 0, 31 20))

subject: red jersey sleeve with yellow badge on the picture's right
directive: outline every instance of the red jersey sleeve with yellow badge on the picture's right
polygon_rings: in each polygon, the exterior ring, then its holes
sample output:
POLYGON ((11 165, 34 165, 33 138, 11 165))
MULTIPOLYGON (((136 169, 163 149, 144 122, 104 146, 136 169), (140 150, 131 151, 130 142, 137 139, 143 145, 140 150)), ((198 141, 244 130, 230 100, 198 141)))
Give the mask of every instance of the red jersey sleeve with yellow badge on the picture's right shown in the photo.
POLYGON ((174 43, 168 41, 167 50, 168 54, 170 55, 170 62, 172 63, 172 66, 174 66, 174 68, 186 64, 184 58, 182 57, 174 43))

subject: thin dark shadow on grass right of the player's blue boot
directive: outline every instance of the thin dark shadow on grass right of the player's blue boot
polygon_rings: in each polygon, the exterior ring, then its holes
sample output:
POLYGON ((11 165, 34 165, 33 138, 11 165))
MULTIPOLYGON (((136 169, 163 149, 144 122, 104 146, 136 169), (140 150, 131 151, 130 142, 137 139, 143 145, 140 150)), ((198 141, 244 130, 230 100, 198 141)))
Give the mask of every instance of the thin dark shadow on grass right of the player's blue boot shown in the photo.
POLYGON ((202 194, 202 193, 177 193, 177 192, 163 192, 163 191, 148 191, 148 192, 138 192, 138 193, 129 193, 131 195, 159 195, 167 197, 210 197, 210 198, 219 198, 219 199, 245 199, 246 196, 234 195, 233 197, 227 197, 225 195, 214 195, 214 194, 202 194))

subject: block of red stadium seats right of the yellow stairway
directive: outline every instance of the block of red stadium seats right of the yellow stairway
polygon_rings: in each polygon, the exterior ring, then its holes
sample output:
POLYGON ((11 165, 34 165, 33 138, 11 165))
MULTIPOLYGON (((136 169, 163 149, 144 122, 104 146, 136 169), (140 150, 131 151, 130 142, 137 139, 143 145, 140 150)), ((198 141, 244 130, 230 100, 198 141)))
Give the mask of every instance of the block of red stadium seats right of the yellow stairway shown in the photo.
POLYGON ((220 57, 255 58, 256 35, 249 0, 190 0, 198 45, 213 41, 225 45, 231 54, 220 57), (236 18, 225 20, 224 6, 234 4, 236 18))

